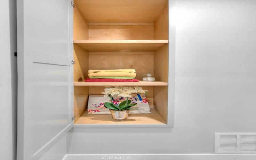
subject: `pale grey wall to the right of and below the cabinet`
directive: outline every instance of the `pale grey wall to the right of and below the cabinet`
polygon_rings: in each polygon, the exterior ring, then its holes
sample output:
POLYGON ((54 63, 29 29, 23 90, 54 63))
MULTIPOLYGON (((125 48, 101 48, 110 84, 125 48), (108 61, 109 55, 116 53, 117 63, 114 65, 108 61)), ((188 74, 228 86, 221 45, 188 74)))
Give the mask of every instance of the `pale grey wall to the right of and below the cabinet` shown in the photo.
POLYGON ((68 154, 214 153, 214 132, 256 132, 256 1, 176 7, 174 128, 74 128, 68 154))

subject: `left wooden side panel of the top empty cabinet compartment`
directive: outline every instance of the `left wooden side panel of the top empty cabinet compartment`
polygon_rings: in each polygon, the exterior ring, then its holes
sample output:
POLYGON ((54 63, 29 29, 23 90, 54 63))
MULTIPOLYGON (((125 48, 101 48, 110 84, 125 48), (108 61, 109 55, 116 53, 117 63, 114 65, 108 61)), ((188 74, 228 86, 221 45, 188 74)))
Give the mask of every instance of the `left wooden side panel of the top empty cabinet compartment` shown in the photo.
POLYGON ((88 39, 88 23, 84 16, 78 10, 77 7, 74 8, 74 37, 76 40, 87 40, 88 39))

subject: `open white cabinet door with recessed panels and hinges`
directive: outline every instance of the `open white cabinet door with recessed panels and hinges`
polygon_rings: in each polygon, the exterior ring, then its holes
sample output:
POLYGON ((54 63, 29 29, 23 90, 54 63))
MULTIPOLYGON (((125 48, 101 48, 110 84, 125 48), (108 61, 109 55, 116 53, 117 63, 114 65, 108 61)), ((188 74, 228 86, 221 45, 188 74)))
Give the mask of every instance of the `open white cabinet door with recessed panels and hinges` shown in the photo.
POLYGON ((17 160, 36 160, 72 128, 73 7, 18 0, 17 160))

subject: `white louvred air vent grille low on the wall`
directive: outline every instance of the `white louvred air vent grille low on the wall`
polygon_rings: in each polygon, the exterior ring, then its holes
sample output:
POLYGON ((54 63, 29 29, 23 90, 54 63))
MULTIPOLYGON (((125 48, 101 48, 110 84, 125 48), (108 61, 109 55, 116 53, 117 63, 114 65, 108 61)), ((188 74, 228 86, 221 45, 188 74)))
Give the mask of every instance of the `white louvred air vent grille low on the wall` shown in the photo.
POLYGON ((256 133, 215 133, 215 153, 256 153, 256 133))

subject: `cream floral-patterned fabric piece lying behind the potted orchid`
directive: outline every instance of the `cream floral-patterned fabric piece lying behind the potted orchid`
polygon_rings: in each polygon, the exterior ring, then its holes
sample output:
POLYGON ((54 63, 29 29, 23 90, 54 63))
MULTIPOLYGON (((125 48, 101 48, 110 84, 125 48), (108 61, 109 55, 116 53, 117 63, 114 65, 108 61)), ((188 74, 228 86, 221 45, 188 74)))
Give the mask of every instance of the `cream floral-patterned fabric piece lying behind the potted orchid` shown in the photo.
MULTIPOLYGON (((138 110, 130 110, 129 114, 146 114, 150 113, 150 108, 148 105, 148 100, 145 96, 145 94, 131 94, 132 97, 129 98, 129 100, 132 101, 132 103, 138 103, 138 105, 132 107, 132 108, 143 108, 138 110)), ((120 104, 121 102, 125 101, 126 98, 124 97, 113 97, 112 101, 114 104, 120 104)), ((110 102, 109 97, 103 97, 103 95, 90 95, 89 101, 88 101, 88 114, 96 114, 96 115, 107 115, 110 114, 110 111, 108 108, 105 108, 104 103, 110 102)))

